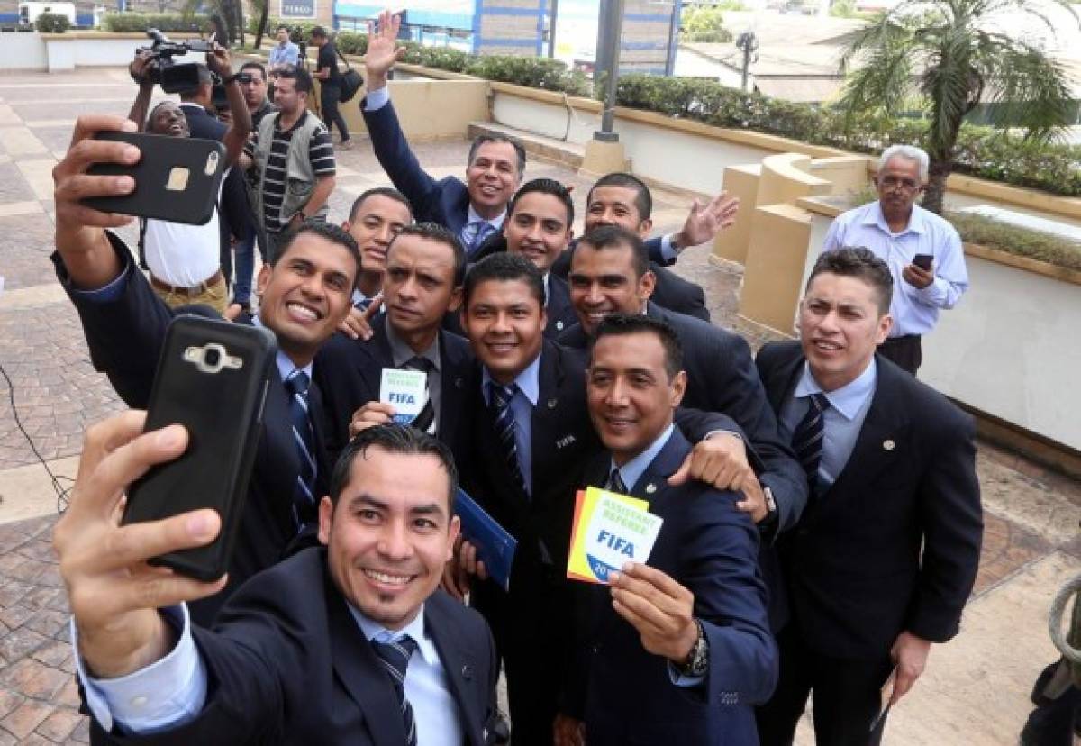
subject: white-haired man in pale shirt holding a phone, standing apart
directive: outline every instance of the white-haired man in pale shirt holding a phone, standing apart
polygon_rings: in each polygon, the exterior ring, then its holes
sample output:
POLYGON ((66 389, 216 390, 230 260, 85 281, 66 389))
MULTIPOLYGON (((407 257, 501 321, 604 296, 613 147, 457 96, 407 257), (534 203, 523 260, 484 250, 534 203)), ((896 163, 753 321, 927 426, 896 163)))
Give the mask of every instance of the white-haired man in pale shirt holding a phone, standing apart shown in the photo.
POLYGON ((920 338, 935 328, 938 312, 952 308, 969 289, 961 237, 948 222, 916 203, 926 187, 927 154, 893 145, 879 160, 879 199, 839 215, 826 234, 823 253, 866 247, 893 272, 893 328, 879 351, 912 375, 923 362, 920 338))

